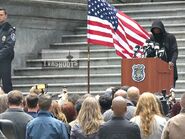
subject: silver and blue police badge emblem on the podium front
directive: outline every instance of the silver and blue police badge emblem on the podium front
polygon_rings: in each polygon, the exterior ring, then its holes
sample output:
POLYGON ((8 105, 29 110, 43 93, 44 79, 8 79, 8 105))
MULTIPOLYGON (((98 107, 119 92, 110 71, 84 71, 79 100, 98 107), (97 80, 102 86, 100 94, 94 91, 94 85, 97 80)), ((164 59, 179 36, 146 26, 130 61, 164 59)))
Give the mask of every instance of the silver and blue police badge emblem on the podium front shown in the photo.
POLYGON ((132 66, 132 79, 136 82, 142 82, 145 79, 145 66, 143 64, 132 66))

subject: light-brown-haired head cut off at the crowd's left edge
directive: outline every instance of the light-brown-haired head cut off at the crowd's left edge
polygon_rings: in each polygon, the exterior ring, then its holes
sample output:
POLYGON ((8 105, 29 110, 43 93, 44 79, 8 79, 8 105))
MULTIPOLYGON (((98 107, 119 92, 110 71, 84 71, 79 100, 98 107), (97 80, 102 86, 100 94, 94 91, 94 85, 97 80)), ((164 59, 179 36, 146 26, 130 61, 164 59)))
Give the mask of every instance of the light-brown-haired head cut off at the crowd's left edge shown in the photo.
POLYGON ((0 95, 0 113, 8 109, 8 96, 7 94, 0 95))

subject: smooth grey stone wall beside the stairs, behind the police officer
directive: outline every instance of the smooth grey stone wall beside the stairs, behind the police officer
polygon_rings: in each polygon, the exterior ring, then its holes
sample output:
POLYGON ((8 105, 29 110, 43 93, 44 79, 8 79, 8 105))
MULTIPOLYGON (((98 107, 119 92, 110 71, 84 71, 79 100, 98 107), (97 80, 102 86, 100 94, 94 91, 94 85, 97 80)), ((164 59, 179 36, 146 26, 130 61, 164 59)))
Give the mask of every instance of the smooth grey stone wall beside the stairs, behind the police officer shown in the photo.
POLYGON ((62 34, 86 24, 86 4, 32 0, 1 0, 9 22, 16 27, 14 67, 24 67, 42 48, 61 42, 62 34))

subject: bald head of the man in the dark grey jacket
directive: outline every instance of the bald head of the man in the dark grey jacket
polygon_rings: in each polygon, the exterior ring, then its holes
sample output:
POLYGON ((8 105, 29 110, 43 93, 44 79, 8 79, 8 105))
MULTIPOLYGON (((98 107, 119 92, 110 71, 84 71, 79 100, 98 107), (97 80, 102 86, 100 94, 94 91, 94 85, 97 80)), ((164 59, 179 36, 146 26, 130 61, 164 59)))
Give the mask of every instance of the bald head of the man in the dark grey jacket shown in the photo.
POLYGON ((121 96, 117 96, 112 101, 112 110, 116 117, 123 117, 127 111, 127 101, 121 96))

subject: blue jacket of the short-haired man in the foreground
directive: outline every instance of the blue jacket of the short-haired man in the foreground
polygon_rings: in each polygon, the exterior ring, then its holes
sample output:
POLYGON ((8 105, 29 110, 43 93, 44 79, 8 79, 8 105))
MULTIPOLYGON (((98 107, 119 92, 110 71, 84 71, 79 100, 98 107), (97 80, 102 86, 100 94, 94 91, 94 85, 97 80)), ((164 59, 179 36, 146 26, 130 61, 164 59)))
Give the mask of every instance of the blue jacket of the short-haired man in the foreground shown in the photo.
POLYGON ((27 124, 26 139, 68 139, 68 135, 63 122, 50 112, 39 111, 38 117, 27 124))

